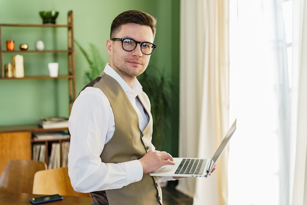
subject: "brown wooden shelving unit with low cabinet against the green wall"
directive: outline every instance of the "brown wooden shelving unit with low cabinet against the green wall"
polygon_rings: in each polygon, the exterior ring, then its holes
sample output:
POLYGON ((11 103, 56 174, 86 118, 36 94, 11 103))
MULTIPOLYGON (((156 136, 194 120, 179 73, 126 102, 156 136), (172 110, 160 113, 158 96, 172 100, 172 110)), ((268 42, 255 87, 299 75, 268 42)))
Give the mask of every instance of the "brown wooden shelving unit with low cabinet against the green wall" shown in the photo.
MULTIPOLYGON (((20 34, 22 35, 22 33, 20 34)), ((7 38, 7 37, 6 37, 7 38)), ((16 45, 15 45, 16 47, 16 45)), ((39 68, 37 68, 39 71, 39 68)), ((0 24, 0 80, 28 80, 28 79, 39 79, 44 85, 43 81, 45 79, 53 79, 57 82, 57 79, 67 79, 68 81, 68 106, 69 111, 73 105, 74 100, 76 99, 76 77, 75 77, 75 48, 74 48, 74 29, 73 29, 73 11, 68 11, 67 14, 67 24, 0 24), (26 29, 31 29, 35 27, 41 27, 42 29, 47 28, 67 28, 67 49, 65 50, 27 50, 27 51, 19 51, 16 49, 14 51, 7 51, 6 47, 3 45, 5 39, 3 39, 3 35, 1 33, 7 27, 18 27, 26 31, 26 29), (67 54, 67 74, 59 75, 58 77, 50 77, 49 75, 31 75, 24 77, 6 77, 4 72, 4 62, 3 55, 15 55, 26 53, 27 55, 31 54, 39 54, 39 58, 44 58, 46 55, 53 55, 54 53, 63 53, 67 54)), ((22 113, 21 113, 22 114, 22 113)), ((37 119, 38 120, 38 119, 37 119)), ((52 138, 52 139, 33 139, 35 133, 40 132, 55 132, 55 131, 66 131, 68 132, 68 128, 52 128, 52 129, 44 129, 38 124, 35 125, 9 125, 9 126, 0 126, 0 175, 4 169, 6 163, 12 158, 22 158, 22 159, 32 159, 33 155, 33 146, 36 144, 44 144, 46 146, 46 154, 45 154, 45 162, 47 165, 50 161, 51 148, 53 143, 58 143, 60 147, 69 142, 70 137, 60 137, 60 138, 52 138), (18 136, 18 137, 16 137, 18 136), (18 142, 22 141, 23 146, 18 142), (16 154, 16 150, 22 154, 16 154)), ((60 154, 62 154, 62 150, 60 149, 60 154)), ((61 162, 62 163, 62 157, 61 162)))

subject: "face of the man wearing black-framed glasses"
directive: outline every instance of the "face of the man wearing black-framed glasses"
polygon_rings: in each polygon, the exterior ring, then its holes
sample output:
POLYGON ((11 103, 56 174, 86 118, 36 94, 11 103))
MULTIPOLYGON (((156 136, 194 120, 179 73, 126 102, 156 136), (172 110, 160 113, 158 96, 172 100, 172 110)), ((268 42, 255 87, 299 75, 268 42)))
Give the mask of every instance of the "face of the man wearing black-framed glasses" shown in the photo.
MULTIPOLYGON (((153 43, 153 31, 150 26, 138 24, 125 24, 114 35, 114 38, 130 38, 140 42, 153 43)), ((134 80, 142 74, 149 63, 151 55, 145 55, 137 44, 133 51, 125 51, 121 41, 106 42, 107 51, 110 54, 110 66, 126 81, 134 80)))

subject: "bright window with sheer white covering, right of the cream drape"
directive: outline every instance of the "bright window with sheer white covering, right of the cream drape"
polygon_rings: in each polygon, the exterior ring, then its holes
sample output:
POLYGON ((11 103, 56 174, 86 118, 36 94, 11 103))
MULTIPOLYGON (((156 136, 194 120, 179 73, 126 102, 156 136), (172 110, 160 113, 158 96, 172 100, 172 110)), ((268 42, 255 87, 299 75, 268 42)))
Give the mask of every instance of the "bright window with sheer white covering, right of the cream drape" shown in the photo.
POLYGON ((291 12, 230 0, 229 205, 288 205, 291 12))

